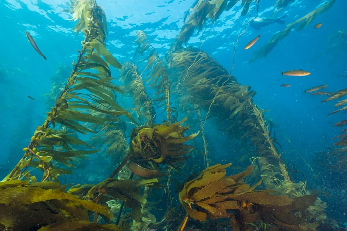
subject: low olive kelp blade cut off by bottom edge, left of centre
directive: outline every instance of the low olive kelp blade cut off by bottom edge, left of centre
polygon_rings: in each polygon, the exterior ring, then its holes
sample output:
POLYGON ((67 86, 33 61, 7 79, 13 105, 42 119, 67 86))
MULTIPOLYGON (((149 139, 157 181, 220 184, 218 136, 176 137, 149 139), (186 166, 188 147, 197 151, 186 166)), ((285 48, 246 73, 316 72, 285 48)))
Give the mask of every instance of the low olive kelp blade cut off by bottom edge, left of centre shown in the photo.
POLYGON ((86 220, 68 220, 63 223, 57 222, 48 226, 42 227, 39 231, 81 231, 81 230, 103 230, 103 231, 121 231, 114 224, 95 224, 86 220))

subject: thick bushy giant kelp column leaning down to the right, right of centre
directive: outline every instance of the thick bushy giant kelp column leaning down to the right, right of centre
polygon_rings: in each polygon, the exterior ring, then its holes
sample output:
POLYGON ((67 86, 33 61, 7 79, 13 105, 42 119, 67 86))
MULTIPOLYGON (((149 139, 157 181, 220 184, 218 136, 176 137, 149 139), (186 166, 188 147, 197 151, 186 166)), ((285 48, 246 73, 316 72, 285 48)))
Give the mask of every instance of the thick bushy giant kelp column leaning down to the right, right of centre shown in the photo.
MULTIPOLYGON (((222 122, 222 129, 228 137, 255 147, 257 157, 254 159, 258 161, 267 189, 292 197, 309 194, 303 182, 290 180, 281 154, 277 152, 276 139, 268 131, 270 124, 264 119, 262 110, 253 103, 255 92, 249 86, 240 85, 203 51, 184 49, 172 53, 170 64, 176 70, 175 76, 181 80, 180 94, 184 102, 203 107, 207 113, 205 121, 212 117, 222 122)), ((316 210, 317 214, 321 213, 320 208, 316 210)))

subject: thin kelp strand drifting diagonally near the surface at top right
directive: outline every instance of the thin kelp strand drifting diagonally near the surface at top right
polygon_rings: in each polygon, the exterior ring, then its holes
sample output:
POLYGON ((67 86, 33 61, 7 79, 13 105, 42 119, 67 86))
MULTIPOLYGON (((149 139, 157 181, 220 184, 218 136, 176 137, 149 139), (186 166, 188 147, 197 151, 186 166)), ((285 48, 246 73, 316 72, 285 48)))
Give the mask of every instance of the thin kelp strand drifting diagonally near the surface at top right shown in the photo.
POLYGON ((266 57, 271 50, 277 45, 279 41, 290 35, 291 31, 293 29, 296 30, 302 30, 304 29, 309 23, 311 23, 319 14, 322 14, 329 10, 335 3, 335 0, 330 0, 325 2, 324 4, 318 6, 315 10, 311 11, 310 13, 307 13, 305 16, 301 17, 300 19, 295 20, 292 23, 288 23, 284 30, 277 32, 271 40, 266 43, 262 48, 260 48, 258 51, 256 51, 250 60, 250 62, 254 62, 255 60, 259 59, 259 57, 266 57))

